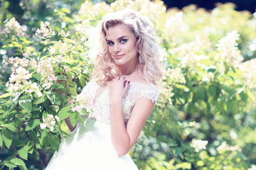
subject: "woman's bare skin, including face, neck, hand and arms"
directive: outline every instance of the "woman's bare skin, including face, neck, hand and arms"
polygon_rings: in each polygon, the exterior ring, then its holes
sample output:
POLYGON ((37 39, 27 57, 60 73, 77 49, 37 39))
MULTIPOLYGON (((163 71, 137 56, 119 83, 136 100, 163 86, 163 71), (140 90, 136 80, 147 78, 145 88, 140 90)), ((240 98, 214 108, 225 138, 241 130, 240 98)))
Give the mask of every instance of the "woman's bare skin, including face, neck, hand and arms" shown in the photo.
MULTIPOLYGON (((127 154, 135 144, 146 119, 153 111, 154 103, 148 98, 139 98, 134 104, 128 123, 124 123, 122 98, 127 92, 129 81, 139 81, 146 84, 142 72, 136 71, 139 66, 136 50, 137 39, 127 26, 121 24, 108 29, 106 41, 108 52, 122 73, 121 77, 116 77, 107 82, 106 87, 103 87, 109 88, 112 144, 121 157, 127 154)), ((66 123, 71 131, 75 129, 70 124, 69 117, 66 119, 66 123)))

